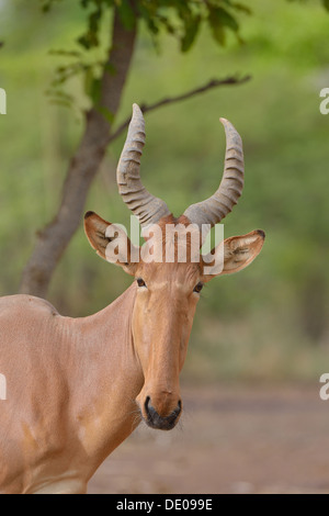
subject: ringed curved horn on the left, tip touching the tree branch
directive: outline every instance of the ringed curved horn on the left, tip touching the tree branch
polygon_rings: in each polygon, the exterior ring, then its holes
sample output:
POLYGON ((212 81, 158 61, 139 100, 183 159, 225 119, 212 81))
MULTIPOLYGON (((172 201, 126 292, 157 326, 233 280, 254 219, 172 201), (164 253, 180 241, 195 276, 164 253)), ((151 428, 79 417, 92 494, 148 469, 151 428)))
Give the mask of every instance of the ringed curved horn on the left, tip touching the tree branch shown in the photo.
POLYGON ((164 201, 151 195, 141 184, 140 156, 145 144, 145 122, 137 104, 133 104, 133 117, 116 170, 118 192, 141 226, 156 224, 170 215, 164 201))

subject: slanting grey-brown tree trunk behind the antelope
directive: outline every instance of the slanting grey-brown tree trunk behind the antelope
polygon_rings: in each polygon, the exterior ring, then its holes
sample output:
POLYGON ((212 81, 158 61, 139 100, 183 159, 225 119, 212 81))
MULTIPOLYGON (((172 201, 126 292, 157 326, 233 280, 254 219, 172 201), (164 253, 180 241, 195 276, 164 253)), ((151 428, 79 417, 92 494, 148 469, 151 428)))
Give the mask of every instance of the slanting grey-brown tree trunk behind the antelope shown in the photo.
POLYGON ((111 123, 101 112, 106 110, 111 119, 117 112, 134 53, 136 25, 128 31, 115 10, 112 46, 101 81, 100 110, 92 108, 86 114, 84 133, 69 165, 60 206, 50 224, 37 232, 34 250, 23 271, 21 293, 47 295, 56 265, 81 223, 89 188, 110 141, 111 123))

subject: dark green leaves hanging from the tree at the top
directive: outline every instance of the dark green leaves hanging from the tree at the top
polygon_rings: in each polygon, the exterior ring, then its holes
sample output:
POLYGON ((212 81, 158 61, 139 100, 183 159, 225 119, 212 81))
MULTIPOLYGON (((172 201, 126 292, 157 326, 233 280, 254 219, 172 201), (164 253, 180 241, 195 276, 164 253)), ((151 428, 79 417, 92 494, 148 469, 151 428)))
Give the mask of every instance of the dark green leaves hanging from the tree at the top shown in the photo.
MULTIPOLYGON (((61 0, 43 1, 43 12, 49 12, 58 1, 61 0)), ((133 30, 136 23, 140 24, 143 21, 157 49, 161 35, 166 32, 178 40, 182 53, 191 49, 203 24, 208 24, 214 40, 220 45, 226 43, 227 31, 235 33, 241 41, 237 14, 251 13, 245 4, 231 0, 76 0, 76 5, 80 5, 87 13, 82 34, 75 40, 79 49, 53 51, 53 54, 70 59, 67 64, 57 66, 48 91, 55 102, 68 106, 76 100, 75 96, 63 90, 63 85, 68 79, 77 75, 82 77, 84 93, 90 103, 98 108, 103 70, 107 68, 110 74, 115 74, 107 61, 109 46, 111 49, 111 45, 115 45, 111 36, 109 41, 107 23, 109 13, 112 14, 114 8, 127 30, 133 30), (103 52, 103 58, 100 55, 95 58, 91 52, 94 49, 99 54, 103 52)), ((113 114, 104 111, 103 106, 99 109, 112 122, 113 114)))

